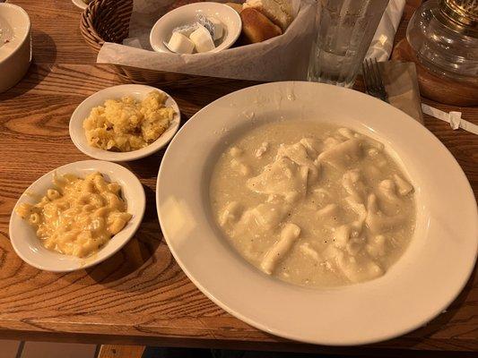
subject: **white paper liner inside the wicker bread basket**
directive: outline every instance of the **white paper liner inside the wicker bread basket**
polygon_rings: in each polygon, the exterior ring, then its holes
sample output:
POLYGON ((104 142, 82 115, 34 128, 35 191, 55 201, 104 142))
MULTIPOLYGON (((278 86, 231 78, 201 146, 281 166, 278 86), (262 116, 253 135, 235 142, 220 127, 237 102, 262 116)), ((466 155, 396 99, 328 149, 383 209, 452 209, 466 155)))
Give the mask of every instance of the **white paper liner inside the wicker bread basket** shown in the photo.
POLYGON ((298 13, 282 36, 214 54, 195 55, 149 51, 152 25, 170 3, 170 0, 135 0, 130 37, 124 42, 128 46, 105 43, 97 62, 250 81, 306 79, 316 15, 314 0, 292 0, 298 13))

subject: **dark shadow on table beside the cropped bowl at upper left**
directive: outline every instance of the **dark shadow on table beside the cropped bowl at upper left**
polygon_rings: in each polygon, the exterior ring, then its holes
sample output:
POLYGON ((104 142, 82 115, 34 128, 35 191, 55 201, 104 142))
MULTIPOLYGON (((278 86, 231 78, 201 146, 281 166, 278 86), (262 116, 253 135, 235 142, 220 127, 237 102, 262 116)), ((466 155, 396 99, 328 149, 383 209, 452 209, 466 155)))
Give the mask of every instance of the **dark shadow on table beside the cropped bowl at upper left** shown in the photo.
POLYGON ((0 100, 12 99, 21 96, 29 90, 35 88, 41 81, 48 76, 51 65, 41 65, 36 63, 35 52, 41 48, 42 53, 48 55, 41 55, 42 63, 54 64, 56 61, 56 45, 55 41, 46 33, 40 30, 33 30, 31 36, 33 46, 33 58, 31 60, 30 68, 20 82, 14 85, 10 90, 0 93, 0 100))

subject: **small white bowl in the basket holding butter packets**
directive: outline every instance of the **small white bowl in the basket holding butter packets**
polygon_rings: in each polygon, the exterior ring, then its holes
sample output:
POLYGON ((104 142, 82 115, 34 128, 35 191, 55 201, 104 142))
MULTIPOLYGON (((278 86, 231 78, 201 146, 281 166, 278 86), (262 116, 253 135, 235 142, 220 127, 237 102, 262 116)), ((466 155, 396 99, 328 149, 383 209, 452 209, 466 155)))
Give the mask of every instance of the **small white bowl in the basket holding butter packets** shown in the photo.
POLYGON ((242 30, 242 21, 236 10, 226 4, 194 3, 178 7, 164 14, 160 20, 156 21, 150 33, 152 49, 157 52, 171 54, 172 52, 164 45, 164 42, 167 43, 169 41, 172 30, 179 26, 195 23, 197 21, 196 16, 201 13, 205 16, 215 17, 224 25, 225 33, 222 36, 221 44, 209 52, 225 50, 231 47, 239 38, 240 31, 242 30))

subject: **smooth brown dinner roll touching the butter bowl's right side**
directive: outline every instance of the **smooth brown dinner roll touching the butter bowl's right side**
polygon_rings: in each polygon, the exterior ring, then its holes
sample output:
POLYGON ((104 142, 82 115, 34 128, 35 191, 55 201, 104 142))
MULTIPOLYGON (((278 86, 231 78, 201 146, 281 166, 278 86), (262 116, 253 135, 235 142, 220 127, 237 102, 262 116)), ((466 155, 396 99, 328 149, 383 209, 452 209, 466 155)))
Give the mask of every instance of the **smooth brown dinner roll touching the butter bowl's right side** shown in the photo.
POLYGON ((256 9, 246 8, 240 12, 242 19, 242 34, 245 42, 256 43, 282 35, 280 27, 274 25, 265 15, 256 9))

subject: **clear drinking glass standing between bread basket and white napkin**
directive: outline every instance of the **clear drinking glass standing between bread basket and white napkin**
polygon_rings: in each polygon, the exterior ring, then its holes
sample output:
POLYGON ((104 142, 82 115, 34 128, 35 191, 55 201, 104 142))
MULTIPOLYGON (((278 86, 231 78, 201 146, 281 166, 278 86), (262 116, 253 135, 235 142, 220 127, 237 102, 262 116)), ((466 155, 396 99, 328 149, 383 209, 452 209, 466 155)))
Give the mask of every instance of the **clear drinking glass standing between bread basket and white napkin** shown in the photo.
POLYGON ((352 87, 388 0, 319 0, 309 81, 352 87))

